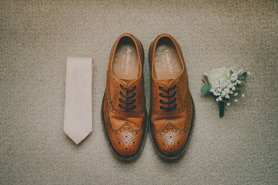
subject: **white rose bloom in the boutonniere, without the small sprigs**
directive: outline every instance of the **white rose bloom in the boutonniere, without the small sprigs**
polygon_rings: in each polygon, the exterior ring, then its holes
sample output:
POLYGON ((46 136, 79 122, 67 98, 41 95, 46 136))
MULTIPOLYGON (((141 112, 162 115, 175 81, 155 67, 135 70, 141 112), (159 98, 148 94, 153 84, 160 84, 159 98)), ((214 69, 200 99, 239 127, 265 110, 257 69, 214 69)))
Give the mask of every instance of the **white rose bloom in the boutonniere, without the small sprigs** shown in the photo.
POLYGON ((215 88, 215 86, 217 86, 219 82, 220 84, 222 84, 225 79, 228 79, 228 77, 226 76, 226 67, 204 72, 204 75, 206 75, 206 77, 208 78, 209 83, 211 84, 211 88, 215 88))

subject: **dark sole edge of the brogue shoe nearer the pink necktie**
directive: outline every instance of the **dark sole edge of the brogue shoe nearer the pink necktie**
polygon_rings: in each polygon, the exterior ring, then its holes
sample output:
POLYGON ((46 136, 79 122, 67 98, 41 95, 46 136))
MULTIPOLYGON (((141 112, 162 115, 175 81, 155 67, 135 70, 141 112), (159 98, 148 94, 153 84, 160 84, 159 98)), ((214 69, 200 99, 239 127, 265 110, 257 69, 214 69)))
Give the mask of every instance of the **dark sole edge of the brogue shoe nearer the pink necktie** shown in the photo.
MULTIPOLYGON (((139 40, 140 42, 140 40, 139 40)), ((142 51, 143 51, 143 66, 144 66, 144 49, 143 49, 143 46, 142 46, 142 43, 140 42, 141 44, 141 47, 142 47, 142 51)), ((143 69, 143 66, 142 66, 142 69, 143 69)), ((143 149, 143 146, 145 145, 145 142, 146 142, 146 138, 147 138, 147 133, 148 133, 148 126, 149 126, 149 123, 148 123, 148 114, 147 114, 147 110, 145 108, 145 116, 144 116, 144 120, 143 120, 143 123, 142 125, 145 125, 145 128, 144 128, 144 135, 143 135, 143 138, 142 138, 142 141, 140 143, 140 147, 139 149, 136 151, 136 153, 134 153, 133 155, 131 156, 123 156, 121 154, 119 154, 113 147, 112 143, 111 143, 111 140, 108 136, 108 133, 106 132, 106 126, 105 126, 105 121, 104 121, 104 113, 103 113, 103 105, 104 105, 104 101, 105 101, 105 92, 104 92, 104 96, 103 96, 103 100, 102 100, 102 105, 101 105, 101 122, 102 122, 102 128, 103 128, 103 132, 104 132, 104 135, 105 135, 105 138, 108 142, 108 145, 109 147, 111 148, 111 150, 113 151, 113 153, 118 157, 120 158, 121 160, 132 160, 134 158, 136 158, 140 152, 142 151, 143 149)))

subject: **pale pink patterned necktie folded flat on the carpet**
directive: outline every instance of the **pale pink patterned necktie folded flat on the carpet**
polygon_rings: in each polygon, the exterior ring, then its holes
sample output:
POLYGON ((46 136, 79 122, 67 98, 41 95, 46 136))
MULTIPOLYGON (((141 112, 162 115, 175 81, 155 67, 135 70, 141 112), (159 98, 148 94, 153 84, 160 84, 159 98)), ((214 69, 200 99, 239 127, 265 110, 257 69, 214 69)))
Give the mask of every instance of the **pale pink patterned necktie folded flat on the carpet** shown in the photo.
POLYGON ((92 132, 93 66, 91 57, 67 58, 64 132, 76 144, 92 132))

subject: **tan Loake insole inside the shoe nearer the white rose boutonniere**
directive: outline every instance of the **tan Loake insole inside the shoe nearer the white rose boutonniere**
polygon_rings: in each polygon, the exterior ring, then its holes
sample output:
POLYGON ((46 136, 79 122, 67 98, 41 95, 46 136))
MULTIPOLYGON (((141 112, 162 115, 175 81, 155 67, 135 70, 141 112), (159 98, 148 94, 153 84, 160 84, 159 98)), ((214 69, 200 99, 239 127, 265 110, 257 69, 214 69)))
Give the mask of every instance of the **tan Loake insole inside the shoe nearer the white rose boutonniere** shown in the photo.
POLYGON ((182 62, 178 51, 168 37, 162 37, 158 40, 153 63, 153 76, 157 80, 175 79, 182 72, 182 62))

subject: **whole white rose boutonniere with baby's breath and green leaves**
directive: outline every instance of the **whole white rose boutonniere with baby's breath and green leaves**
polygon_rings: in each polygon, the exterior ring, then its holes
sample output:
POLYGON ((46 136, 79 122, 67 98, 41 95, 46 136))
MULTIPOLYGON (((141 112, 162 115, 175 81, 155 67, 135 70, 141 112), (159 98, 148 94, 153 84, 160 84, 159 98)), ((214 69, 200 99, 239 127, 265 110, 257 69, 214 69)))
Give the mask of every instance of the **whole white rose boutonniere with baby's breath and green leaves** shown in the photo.
MULTIPOLYGON (((201 88, 203 94, 210 93, 214 96, 215 100, 219 102, 219 116, 224 116, 224 106, 230 106, 229 100, 231 97, 239 97, 237 90, 244 87, 243 82, 247 82, 247 75, 250 72, 244 72, 242 69, 236 71, 236 67, 222 67, 219 69, 213 69, 208 72, 204 72, 204 75, 208 78, 209 83, 205 83, 201 88)), ((244 94, 241 95, 244 97, 244 94)), ((234 102, 238 100, 235 99, 234 102)))

